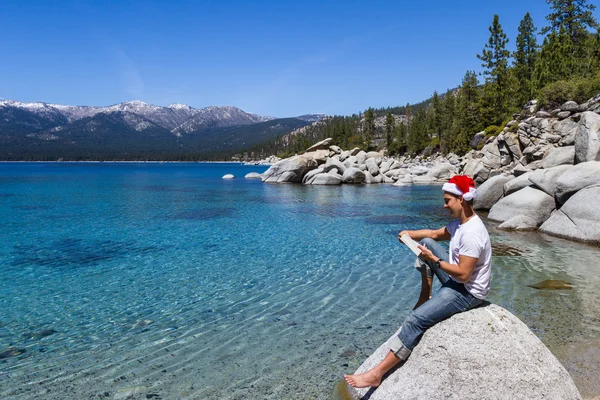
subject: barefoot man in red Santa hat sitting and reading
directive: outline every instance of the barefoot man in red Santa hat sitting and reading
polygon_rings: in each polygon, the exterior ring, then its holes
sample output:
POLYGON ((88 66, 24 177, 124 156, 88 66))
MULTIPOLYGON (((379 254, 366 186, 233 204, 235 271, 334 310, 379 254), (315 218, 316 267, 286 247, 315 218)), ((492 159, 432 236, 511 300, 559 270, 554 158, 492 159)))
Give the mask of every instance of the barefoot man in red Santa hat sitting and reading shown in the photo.
POLYGON ((444 208, 454 220, 437 230, 402 231, 398 235, 400 238, 406 233, 421 241, 422 253, 417 259, 422 274, 419 301, 398 335, 392 338, 383 361, 365 373, 344 376, 351 386, 379 386, 390 369, 408 358, 427 329, 453 314, 480 305, 490 290, 492 248, 487 229, 473 210, 475 183, 466 175, 456 175, 442 190, 444 208), (450 240, 449 254, 437 243, 440 240, 450 240), (429 298, 433 274, 442 287, 429 298))

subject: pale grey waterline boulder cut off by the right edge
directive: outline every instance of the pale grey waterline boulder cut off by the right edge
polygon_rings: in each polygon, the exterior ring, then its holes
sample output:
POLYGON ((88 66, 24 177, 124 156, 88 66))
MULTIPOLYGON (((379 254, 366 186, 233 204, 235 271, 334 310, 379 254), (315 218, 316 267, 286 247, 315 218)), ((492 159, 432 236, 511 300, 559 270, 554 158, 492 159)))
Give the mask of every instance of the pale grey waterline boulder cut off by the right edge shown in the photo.
POLYGON ((540 227, 540 231, 567 239, 600 244, 600 186, 581 189, 540 227))

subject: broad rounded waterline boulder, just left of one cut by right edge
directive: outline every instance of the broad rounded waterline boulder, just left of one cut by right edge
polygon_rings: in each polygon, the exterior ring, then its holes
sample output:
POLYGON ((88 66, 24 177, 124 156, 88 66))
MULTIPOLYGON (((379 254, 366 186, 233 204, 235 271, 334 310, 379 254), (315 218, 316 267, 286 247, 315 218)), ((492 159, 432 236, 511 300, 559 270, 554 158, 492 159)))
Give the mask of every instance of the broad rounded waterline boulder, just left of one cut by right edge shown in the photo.
POLYGON ((494 204, 488 218, 504 222, 517 215, 525 215, 533 218, 536 226, 540 226, 550 217, 554 207, 552 196, 541 190, 526 187, 494 204))

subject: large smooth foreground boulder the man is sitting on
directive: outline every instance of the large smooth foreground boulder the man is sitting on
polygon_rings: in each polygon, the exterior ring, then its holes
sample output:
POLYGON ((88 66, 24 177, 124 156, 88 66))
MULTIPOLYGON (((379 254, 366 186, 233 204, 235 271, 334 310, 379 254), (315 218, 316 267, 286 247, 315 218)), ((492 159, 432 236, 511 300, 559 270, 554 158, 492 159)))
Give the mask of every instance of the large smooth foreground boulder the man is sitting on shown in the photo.
MULTIPOLYGON (((390 340, 356 373, 373 368, 389 349, 390 340)), ((550 350, 523 322, 495 304, 434 325, 377 389, 348 392, 349 398, 370 400, 581 399, 550 350)))

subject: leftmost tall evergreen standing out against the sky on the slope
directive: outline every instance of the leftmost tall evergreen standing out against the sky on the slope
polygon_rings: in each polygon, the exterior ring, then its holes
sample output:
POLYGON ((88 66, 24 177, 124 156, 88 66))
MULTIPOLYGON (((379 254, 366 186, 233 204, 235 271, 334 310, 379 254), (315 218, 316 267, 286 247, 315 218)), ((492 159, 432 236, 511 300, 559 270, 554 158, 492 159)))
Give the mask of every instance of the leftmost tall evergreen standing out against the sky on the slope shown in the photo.
POLYGON ((509 111, 508 38, 500 25, 500 18, 494 15, 489 27, 490 38, 481 54, 477 55, 484 68, 485 87, 482 98, 482 112, 486 124, 500 124, 509 111))

